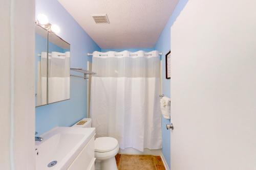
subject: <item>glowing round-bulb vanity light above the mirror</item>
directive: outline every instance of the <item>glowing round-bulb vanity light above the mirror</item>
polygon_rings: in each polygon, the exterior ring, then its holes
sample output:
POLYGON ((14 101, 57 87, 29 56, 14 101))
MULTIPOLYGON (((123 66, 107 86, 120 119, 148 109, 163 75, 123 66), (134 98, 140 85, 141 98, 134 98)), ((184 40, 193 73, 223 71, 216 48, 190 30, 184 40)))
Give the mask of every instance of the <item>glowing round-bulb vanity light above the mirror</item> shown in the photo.
POLYGON ((42 28, 45 28, 47 31, 52 33, 59 33, 60 29, 57 25, 49 23, 48 17, 45 14, 38 14, 37 20, 35 21, 36 25, 41 26, 42 28))

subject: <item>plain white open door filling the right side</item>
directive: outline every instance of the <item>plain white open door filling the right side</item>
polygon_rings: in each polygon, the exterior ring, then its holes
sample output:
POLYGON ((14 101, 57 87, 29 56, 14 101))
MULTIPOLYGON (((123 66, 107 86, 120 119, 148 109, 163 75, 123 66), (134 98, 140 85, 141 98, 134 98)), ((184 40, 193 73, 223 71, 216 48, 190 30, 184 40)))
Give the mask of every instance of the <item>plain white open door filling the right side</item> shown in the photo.
POLYGON ((255 7, 191 0, 171 28, 172 170, 256 169, 255 7))

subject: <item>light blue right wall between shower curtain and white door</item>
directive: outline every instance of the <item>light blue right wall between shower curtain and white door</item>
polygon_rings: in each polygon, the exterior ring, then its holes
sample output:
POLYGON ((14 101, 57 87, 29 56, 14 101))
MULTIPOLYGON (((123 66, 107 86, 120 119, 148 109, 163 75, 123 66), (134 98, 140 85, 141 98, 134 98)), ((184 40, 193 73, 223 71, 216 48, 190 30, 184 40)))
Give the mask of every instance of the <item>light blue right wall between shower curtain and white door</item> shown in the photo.
MULTIPOLYGON (((172 16, 170 16, 166 26, 164 27, 159 39, 156 43, 155 49, 157 51, 163 52, 162 55, 162 93, 170 98, 170 79, 165 79, 165 54, 170 50, 170 28, 173 26, 175 20, 179 16, 180 12, 185 7, 188 0, 180 0, 177 4, 172 16)), ((166 130, 166 124, 170 121, 162 118, 162 138, 163 138, 163 156, 170 168, 170 131, 166 130)))

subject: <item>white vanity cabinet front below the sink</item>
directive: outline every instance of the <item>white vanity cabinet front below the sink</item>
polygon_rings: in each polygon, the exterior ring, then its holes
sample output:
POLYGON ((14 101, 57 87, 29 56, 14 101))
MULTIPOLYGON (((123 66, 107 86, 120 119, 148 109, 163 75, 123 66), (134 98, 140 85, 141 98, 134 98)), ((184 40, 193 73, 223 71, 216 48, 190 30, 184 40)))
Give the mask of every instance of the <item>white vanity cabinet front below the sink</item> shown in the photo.
POLYGON ((69 166, 69 170, 94 170, 94 136, 78 154, 73 163, 69 166))

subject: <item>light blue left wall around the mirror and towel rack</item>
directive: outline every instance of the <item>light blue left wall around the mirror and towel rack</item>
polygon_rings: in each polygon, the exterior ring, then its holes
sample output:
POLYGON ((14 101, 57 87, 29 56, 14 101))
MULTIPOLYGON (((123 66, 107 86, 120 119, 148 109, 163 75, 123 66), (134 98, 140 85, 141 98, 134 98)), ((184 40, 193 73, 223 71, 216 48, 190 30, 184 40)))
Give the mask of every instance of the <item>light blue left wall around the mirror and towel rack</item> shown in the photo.
MULTIPOLYGON (((44 13, 60 28, 58 36, 71 44, 71 67, 87 68, 87 53, 101 51, 57 0, 36 0, 35 16, 44 13)), ((72 72, 72 74, 74 74, 72 72)), ((87 80, 71 77, 70 100, 36 108, 36 131, 42 134, 56 126, 71 126, 87 116, 87 80)))

